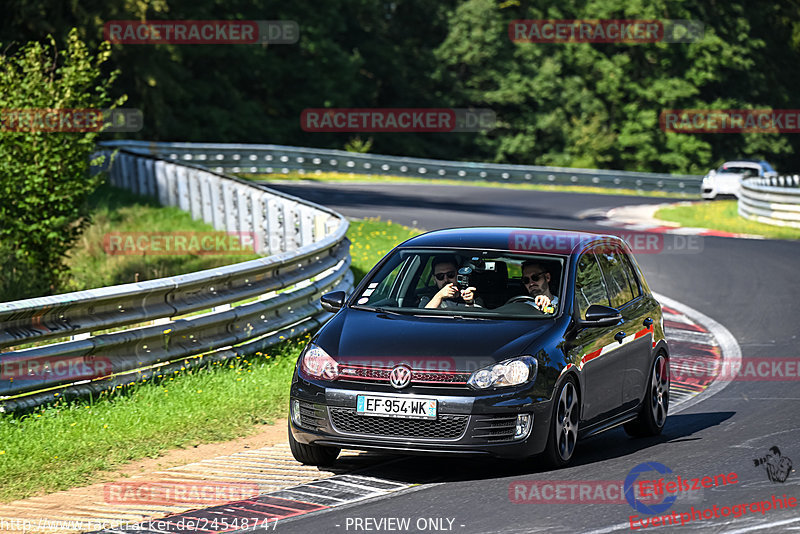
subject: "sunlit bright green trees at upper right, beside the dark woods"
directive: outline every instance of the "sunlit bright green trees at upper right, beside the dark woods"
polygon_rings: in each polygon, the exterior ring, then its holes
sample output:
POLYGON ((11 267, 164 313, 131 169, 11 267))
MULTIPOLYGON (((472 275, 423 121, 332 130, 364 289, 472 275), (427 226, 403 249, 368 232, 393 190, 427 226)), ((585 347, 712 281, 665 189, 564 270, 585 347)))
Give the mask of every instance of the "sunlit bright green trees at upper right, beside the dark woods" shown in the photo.
POLYGON ((796 65, 798 49, 776 36, 796 33, 789 20, 800 10, 757 4, 538 1, 503 9, 468 0, 453 11, 436 54, 456 94, 502 118, 481 140, 495 161, 691 173, 737 156, 789 161, 788 136, 665 133, 658 122, 665 109, 796 107, 797 69, 778 64, 796 65), (693 19, 705 36, 652 44, 498 38, 515 19, 693 19))

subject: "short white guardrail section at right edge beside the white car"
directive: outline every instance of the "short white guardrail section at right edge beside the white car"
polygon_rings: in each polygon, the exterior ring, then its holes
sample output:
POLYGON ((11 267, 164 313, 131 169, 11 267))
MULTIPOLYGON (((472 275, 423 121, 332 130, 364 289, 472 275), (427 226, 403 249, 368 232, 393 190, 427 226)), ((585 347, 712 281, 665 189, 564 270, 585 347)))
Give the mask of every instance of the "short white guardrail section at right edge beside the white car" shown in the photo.
POLYGON ((738 205, 746 219, 800 228, 800 176, 742 180, 738 205))

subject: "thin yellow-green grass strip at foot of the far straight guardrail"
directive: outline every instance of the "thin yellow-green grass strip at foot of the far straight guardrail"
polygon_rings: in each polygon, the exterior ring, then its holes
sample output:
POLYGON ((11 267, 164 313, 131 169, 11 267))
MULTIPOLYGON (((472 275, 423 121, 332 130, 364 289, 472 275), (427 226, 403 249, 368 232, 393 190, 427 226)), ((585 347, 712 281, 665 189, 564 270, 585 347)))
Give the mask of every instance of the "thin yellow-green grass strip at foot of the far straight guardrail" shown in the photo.
MULTIPOLYGON (((414 178, 410 176, 377 176, 353 173, 323 172, 321 174, 241 174, 243 178, 254 181, 280 181, 280 180, 305 180, 311 182, 347 182, 347 183, 423 183, 438 185, 475 185, 481 187, 502 187, 505 189, 526 189, 534 191, 561 191, 566 193, 584 193, 592 195, 625 195, 637 197, 658 198, 700 198, 700 191, 696 193, 670 193, 666 191, 644 191, 639 189, 609 189, 606 187, 590 187, 579 185, 549 185, 549 184, 508 184, 503 182, 490 182, 487 180, 449 180, 439 178, 414 178)), ((698 186, 699 187, 699 186, 698 186)))

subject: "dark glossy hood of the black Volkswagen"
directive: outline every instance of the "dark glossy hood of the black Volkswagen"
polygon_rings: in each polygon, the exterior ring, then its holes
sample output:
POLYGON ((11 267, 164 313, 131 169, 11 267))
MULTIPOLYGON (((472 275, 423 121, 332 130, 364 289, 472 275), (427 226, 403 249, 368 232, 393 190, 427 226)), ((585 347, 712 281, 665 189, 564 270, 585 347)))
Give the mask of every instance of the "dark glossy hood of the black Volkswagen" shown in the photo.
POLYGON ((475 370, 538 350, 531 345, 556 322, 418 317, 349 308, 326 324, 316 341, 342 363, 475 370))

